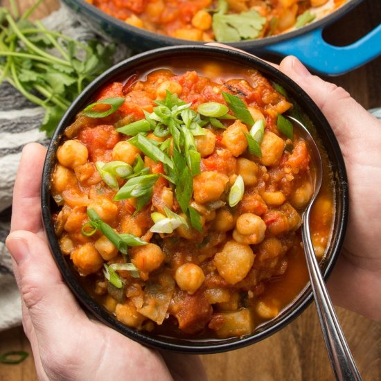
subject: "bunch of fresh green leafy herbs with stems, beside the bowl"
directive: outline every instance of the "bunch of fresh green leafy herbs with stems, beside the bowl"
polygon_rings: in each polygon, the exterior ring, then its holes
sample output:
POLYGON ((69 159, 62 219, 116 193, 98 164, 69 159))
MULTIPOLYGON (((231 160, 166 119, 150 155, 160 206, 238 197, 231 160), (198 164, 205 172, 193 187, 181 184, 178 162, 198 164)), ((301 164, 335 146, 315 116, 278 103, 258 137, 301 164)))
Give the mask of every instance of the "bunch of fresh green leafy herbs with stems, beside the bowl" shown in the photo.
POLYGON ((112 64, 114 46, 86 44, 47 30, 30 15, 42 0, 19 15, 14 0, 0 8, 0 83, 8 81, 28 100, 46 110, 41 130, 53 134, 73 100, 112 64))

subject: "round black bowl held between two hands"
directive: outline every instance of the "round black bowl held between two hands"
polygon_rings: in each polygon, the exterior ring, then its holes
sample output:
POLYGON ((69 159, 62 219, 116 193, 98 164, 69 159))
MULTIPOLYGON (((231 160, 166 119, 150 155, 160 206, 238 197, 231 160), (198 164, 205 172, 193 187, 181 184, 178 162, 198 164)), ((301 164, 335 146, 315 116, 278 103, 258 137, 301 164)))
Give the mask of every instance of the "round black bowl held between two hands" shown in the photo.
POLYGON ((348 182, 346 179, 344 159, 339 144, 328 121, 301 87, 266 62, 239 51, 231 51, 228 48, 217 48, 214 46, 175 46, 160 48, 125 60, 103 73, 103 75, 94 80, 94 82, 91 82, 91 84, 82 91, 82 94, 78 96, 71 107, 69 107, 66 114, 64 114, 48 147, 42 179, 42 215, 53 257, 57 266, 60 268, 64 280, 71 288, 71 291, 77 296, 80 303, 100 319, 100 321, 118 330, 123 335, 134 339, 136 342, 154 348, 187 353, 218 353, 258 342, 289 324, 290 321, 301 314, 312 301, 310 285, 306 285, 299 296, 282 310, 278 317, 267 321, 267 323, 257 328, 252 335, 247 337, 233 337, 229 339, 179 339, 141 333, 116 320, 112 314, 98 305, 98 303, 87 294, 82 285, 80 285, 69 262, 61 254, 51 216, 54 205, 54 201, 51 197, 51 175, 55 165, 55 154, 65 128, 73 122, 76 114, 91 103, 96 92, 101 87, 112 80, 127 78, 134 73, 134 71, 141 69, 141 67, 147 66, 150 69, 155 69, 161 62, 168 62, 168 60, 176 58, 189 58, 191 62, 192 57, 202 57, 207 61, 212 60, 213 57, 213 60, 222 60, 224 62, 241 64, 246 67, 258 69, 267 78, 275 80, 278 84, 283 86, 289 96, 296 100, 296 103, 303 109, 312 125, 317 127, 314 130, 314 134, 317 139, 321 141, 322 145, 324 145, 328 155, 328 161, 332 168, 332 181, 335 191, 336 213, 333 222, 333 233, 330 246, 321 263, 324 278, 328 278, 342 247, 348 220, 348 182))

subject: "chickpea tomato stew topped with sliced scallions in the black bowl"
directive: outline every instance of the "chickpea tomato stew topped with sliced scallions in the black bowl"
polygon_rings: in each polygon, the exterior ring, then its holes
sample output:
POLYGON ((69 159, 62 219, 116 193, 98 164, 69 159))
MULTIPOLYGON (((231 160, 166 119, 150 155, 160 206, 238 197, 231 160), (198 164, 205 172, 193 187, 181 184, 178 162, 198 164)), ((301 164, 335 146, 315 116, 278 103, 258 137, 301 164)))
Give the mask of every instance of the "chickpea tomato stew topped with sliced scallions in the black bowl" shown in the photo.
MULTIPOLYGON (((307 284, 300 226, 314 163, 282 116, 295 108, 282 87, 238 64, 188 66, 109 83, 66 128, 51 178, 55 233, 123 324, 241 337, 307 284)), ((319 258, 335 213, 326 180, 311 221, 319 258)))

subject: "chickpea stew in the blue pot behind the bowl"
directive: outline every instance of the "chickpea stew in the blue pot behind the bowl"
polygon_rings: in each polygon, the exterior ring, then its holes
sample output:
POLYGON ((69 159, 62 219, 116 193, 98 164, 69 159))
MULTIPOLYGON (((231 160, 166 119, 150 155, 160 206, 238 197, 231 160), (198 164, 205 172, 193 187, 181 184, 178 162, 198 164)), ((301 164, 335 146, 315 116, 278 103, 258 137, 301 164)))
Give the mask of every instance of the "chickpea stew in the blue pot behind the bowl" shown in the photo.
POLYGON ((346 0, 87 0, 103 12, 179 39, 239 42, 309 24, 346 0), (325 7, 325 8, 324 8, 325 7))

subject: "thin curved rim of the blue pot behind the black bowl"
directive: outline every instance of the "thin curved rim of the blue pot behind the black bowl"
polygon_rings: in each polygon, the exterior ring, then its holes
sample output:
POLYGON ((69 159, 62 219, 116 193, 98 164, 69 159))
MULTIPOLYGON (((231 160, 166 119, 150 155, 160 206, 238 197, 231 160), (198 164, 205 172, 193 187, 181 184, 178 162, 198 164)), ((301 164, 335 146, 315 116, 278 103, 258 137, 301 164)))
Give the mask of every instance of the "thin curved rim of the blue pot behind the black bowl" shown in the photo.
MULTIPOLYGON (((202 45, 205 42, 196 42, 188 39, 179 39, 176 37, 170 37, 168 35, 161 35, 160 33, 151 32, 150 30, 144 28, 138 28, 136 26, 132 26, 123 22, 116 17, 108 15, 106 12, 103 12, 96 6, 91 5, 86 0, 63 0, 64 3, 74 3, 77 7, 85 10, 87 14, 94 18, 100 19, 102 21, 106 21, 107 24, 113 26, 114 28, 118 28, 119 30, 123 30, 125 32, 134 35, 134 37, 143 37, 144 39, 154 43, 156 46, 167 46, 170 45, 202 45)), ((250 50, 251 48, 266 48, 268 45, 276 44, 278 42, 283 42, 288 39, 292 39, 294 37, 299 37, 305 33, 311 32, 317 28, 323 28, 326 25, 332 24, 333 21, 339 19, 344 16, 346 12, 349 12, 355 6, 360 4, 363 0, 346 0, 346 3, 339 6, 332 12, 324 15, 323 17, 313 21, 310 24, 302 26, 301 28, 292 29, 287 32, 281 33, 279 35, 261 37, 259 39, 248 39, 240 42, 221 42, 221 44, 227 44, 229 46, 234 46, 236 48, 240 48, 243 50, 250 50)), ((217 42, 217 41, 213 41, 217 42)))

